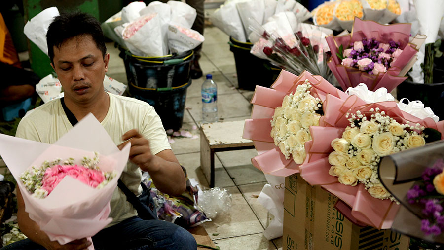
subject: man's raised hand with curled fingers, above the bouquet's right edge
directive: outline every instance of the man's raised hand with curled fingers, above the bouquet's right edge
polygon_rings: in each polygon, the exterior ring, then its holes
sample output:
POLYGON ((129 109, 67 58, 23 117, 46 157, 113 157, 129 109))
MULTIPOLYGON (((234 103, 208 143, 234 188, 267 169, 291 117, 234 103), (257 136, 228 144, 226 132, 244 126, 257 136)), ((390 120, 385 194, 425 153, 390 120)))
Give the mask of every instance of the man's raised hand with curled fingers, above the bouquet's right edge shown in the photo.
POLYGON ((145 137, 139 134, 137 130, 132 129, 122 136, 122 140, 126 142, 118 145, 118 148, 122 150, 128 142, 131 142, 129 159, 134 164, 138 165, 144 171, 157 171, 157 169, 153 169, 152 161, 154 155, 151 154, 149 142, 145 137))

